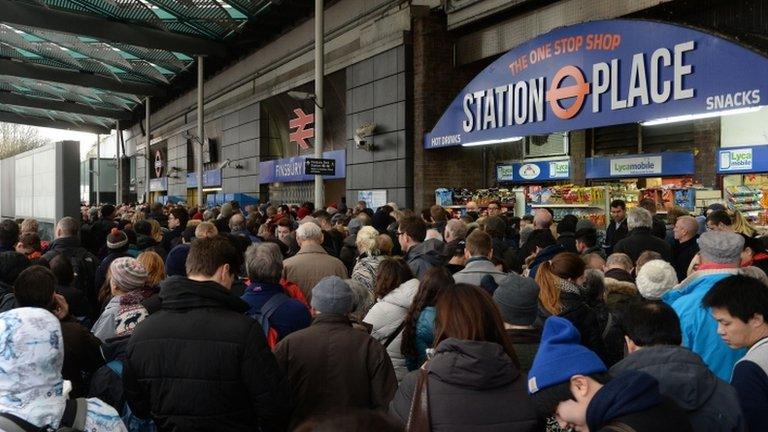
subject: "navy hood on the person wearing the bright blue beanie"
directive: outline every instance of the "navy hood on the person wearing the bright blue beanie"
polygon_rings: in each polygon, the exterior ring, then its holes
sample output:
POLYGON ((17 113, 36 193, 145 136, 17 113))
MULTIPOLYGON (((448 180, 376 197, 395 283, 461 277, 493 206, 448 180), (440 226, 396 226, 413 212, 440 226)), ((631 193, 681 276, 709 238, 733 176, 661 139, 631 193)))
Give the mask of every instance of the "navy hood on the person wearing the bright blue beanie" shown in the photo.
POLYGON ((598 431, 611 420, 661 403, 659 382, 644 372, 624 372, 595 393, 587 407, 587 426, 598 431))

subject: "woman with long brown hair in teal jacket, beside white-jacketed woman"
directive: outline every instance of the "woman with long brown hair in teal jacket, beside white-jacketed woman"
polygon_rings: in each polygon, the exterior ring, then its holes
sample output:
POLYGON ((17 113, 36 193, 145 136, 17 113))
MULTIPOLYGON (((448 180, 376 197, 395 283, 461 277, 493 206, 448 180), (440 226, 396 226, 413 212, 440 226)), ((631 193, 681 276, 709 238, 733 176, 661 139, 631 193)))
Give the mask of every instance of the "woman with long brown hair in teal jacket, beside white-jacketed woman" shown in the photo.
POLYGON ((444 267, 432 267, 424 274, 424 280, 405 316, 400 343, 400 352, 405 356, 408 371, 418 369, 426 360, 426 350, 432 347, 435 338, 437 296, 453 284, 453 277, 444 267))

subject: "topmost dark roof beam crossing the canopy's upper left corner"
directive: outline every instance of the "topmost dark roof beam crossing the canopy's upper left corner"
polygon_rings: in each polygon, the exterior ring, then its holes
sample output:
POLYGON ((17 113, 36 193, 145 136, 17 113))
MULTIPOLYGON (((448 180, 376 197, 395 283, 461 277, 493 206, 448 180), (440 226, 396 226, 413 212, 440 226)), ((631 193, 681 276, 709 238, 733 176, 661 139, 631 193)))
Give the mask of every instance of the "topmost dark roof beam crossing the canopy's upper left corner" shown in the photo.
POLYGON ((48 9, 16 0, 0 0, 0 21, 46 30, 88 36, 145 48, 177 51, 192 55, 222 56, 224 44, 208 39, 181 35, 152 27, 110 21, 92 15, 48 9))

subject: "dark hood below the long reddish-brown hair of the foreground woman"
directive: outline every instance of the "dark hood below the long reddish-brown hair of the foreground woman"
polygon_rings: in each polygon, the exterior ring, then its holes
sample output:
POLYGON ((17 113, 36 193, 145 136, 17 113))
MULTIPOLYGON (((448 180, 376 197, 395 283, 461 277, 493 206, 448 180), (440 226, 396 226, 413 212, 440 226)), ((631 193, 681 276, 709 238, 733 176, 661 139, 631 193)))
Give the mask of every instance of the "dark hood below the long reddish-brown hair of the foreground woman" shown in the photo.
POLYGON ((520 376, 504 348, 494 342, 448 338, 428 365, 440 381, 474 390, 505 386, 520 376))

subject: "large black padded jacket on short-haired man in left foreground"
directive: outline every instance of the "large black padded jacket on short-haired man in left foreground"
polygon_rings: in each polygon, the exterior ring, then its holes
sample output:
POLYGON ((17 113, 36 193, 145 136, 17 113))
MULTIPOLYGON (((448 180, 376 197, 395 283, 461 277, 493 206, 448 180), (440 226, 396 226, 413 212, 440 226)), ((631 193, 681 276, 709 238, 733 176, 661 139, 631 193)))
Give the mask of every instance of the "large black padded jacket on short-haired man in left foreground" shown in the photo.
POLYGON ((174 276, 128 343, 125 397, 162 431, 283 430, 287 385, 248 304, 216 282, 174 276))

